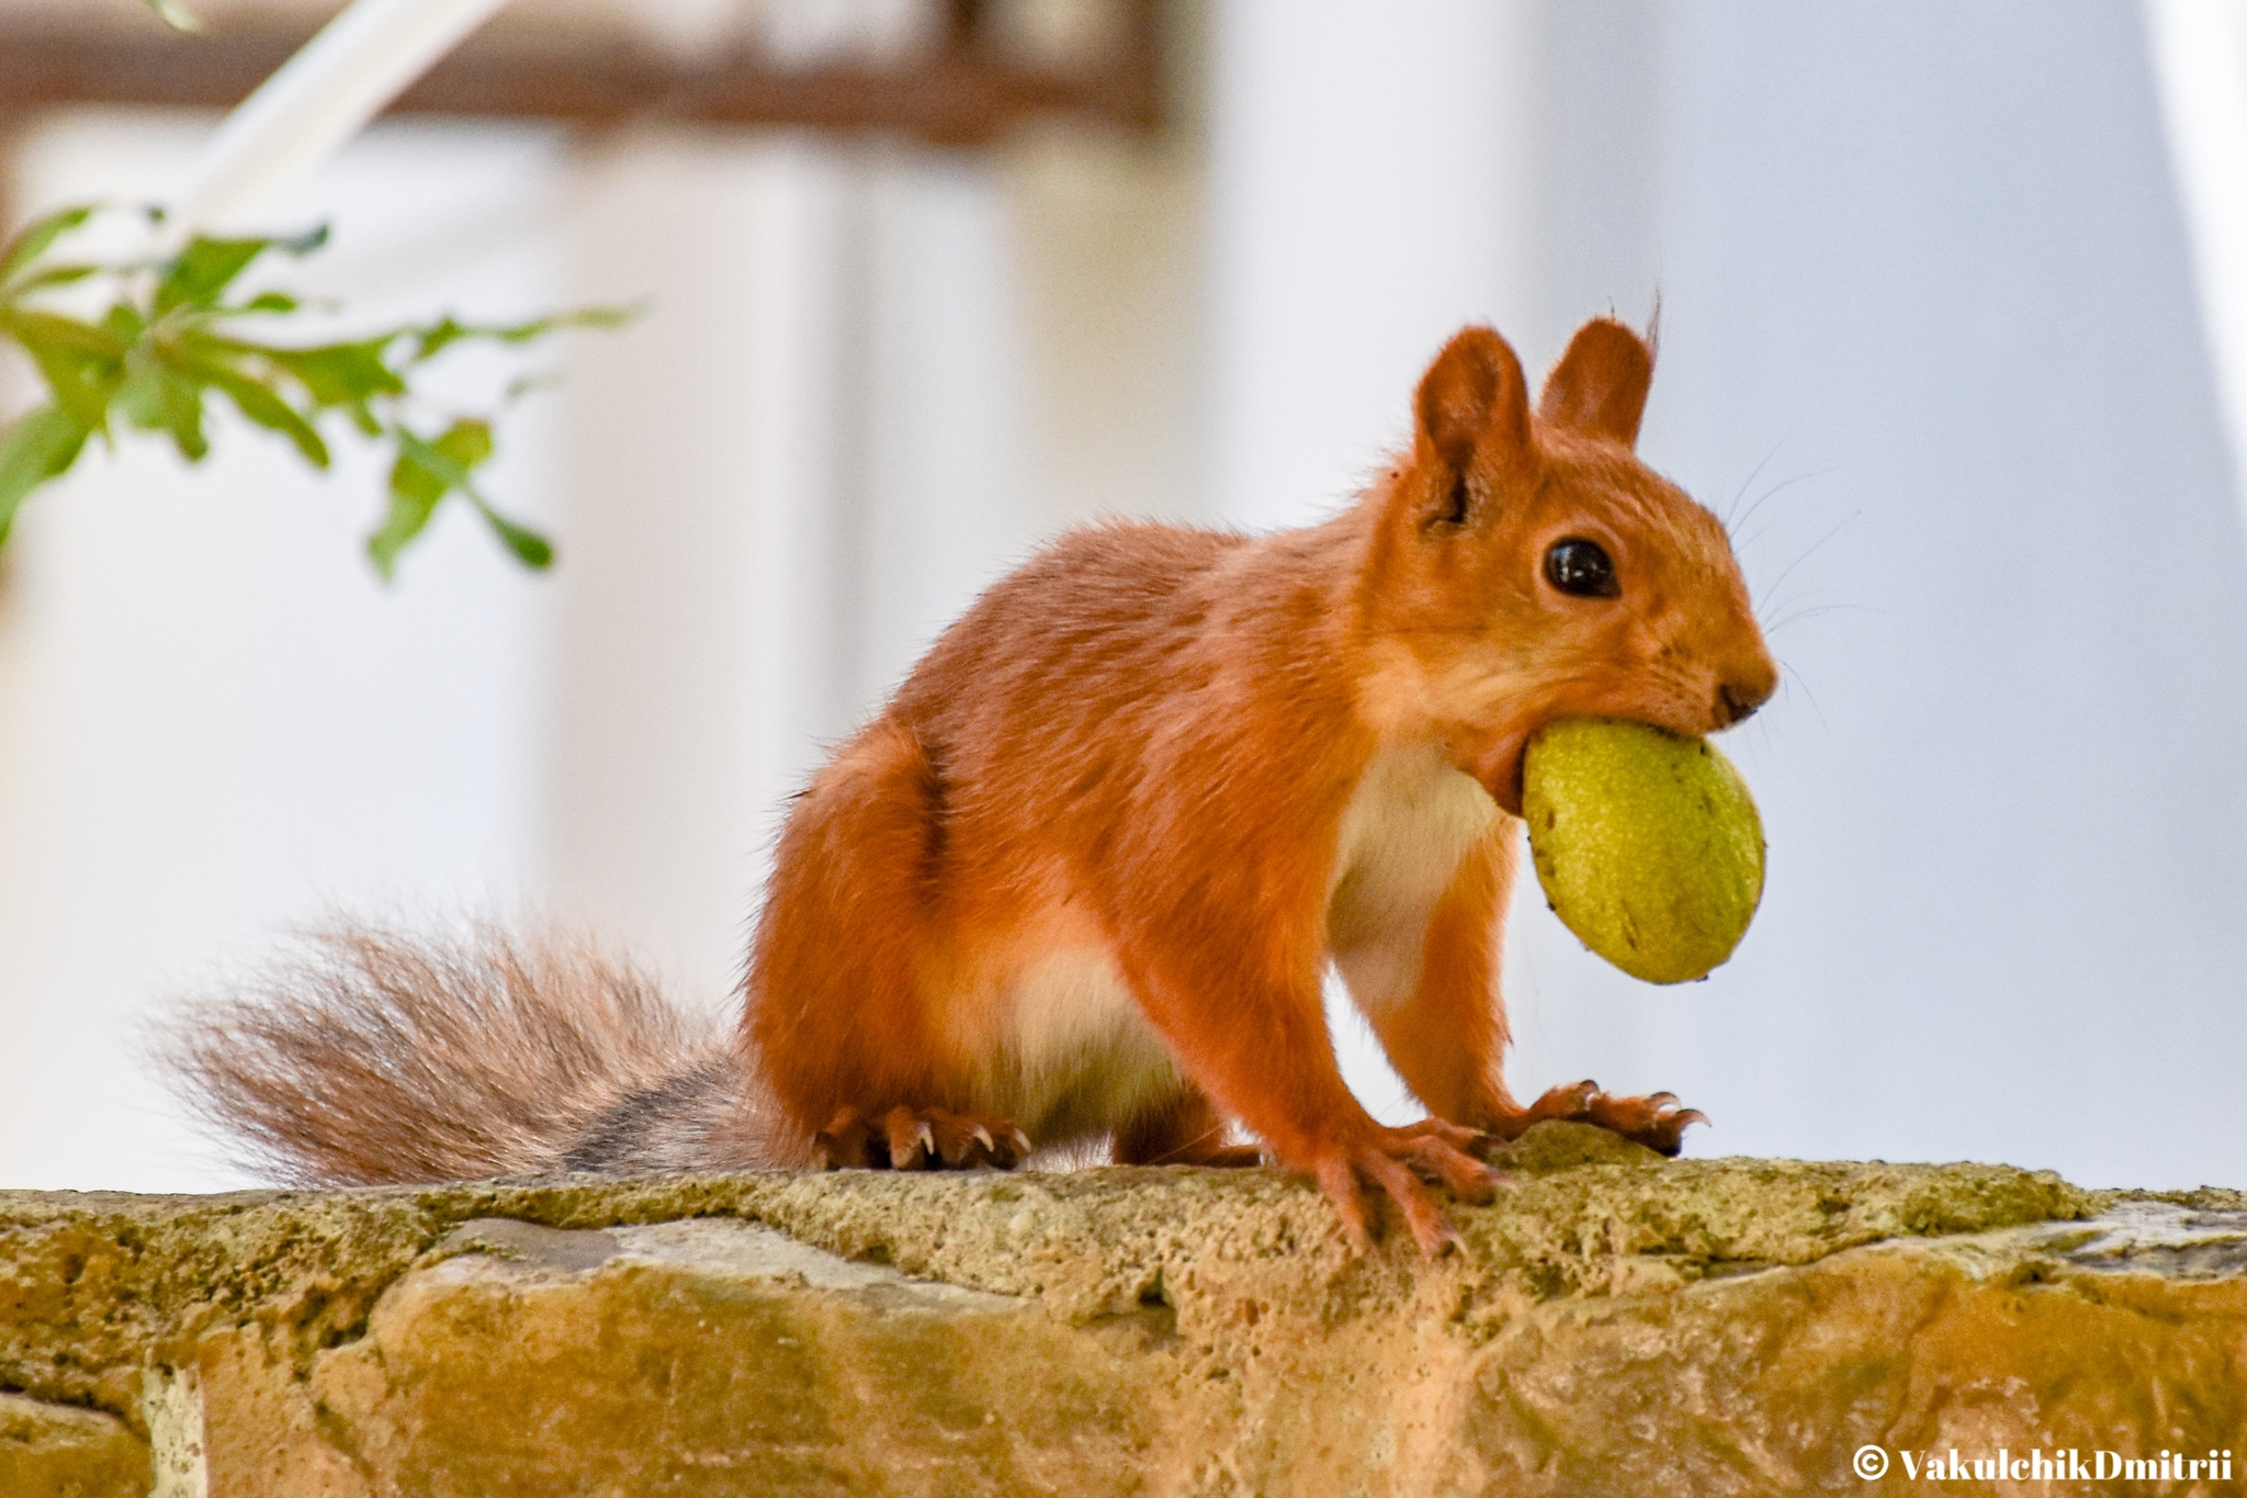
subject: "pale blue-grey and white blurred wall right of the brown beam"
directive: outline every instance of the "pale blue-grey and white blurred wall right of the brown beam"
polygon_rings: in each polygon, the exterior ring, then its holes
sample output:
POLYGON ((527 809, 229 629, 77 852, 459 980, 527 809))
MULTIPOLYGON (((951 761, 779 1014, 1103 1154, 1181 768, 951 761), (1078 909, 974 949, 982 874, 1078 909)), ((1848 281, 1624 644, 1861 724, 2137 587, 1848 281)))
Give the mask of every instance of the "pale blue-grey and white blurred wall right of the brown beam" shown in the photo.
POLYGON ((2247 1175, 2247 557, 2135 7, 1218 16, 1227 510, 1344 494, 1458 321, 1535 368, 1658 290, 1640 449, 1739 519, 1786 663, 1728 741, 1739 957, 1654 990, 1526 889, 1517 1091, 1674 1089, 1694 1152, 2247 1175))

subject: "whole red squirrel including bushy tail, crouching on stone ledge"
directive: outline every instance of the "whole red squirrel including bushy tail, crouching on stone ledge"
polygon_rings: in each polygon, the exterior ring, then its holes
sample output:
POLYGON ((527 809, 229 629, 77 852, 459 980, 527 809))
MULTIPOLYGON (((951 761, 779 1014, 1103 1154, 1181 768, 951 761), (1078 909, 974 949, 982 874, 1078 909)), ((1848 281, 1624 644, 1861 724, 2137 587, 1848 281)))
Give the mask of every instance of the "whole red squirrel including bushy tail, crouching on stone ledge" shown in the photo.
POLYGON ((739 1033, 685 1033, 573 948, 342 930, 173 1026, 283 1175, 1011 1168, 1310 1172, 1422 1251, 1492 1141, 1582 1118, 1674 1154, 1699 1114, 1589 1083, 1519 1105, 1499 939, 1521 755, 1557 716, 1705 734, 1777 674, 1719 521, 1634 454, 1654 350, 1586 323, 1535 411, 1458 332, 1411 447, 1335 519, 1072 532, 993 584, 798 797, 739 1033), (1341 1083, 1332 963, 1429 1109, 1341 1083), (1229 1123, 1258 1145, 1227 1141, 1229 1123))

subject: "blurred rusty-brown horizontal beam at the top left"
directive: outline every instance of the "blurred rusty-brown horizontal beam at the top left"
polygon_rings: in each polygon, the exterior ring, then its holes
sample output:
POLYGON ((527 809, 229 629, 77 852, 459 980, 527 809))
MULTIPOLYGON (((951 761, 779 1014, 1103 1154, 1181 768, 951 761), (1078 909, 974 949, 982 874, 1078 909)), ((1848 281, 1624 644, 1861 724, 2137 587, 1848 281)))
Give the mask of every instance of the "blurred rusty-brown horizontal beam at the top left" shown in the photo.
MULTIPOLYGON (((613 34, 494 25, 431 67, 391 110, 580 126, 804 126, 939 146, 984 146, 1029 121, 1155 130, 1159 0, 1115 4, 1126 11, 1121 45, 1074 67, 1038 65, 993 45, 975 0, 948 0, 941 43, 894 65, 786 70, 750 49, 683 58, 613 34)), ((85 25, 76 13, 0 18, 0 115, 65 103, 225 110, 310 34, 274 22, 178 36, 155 25, 85 25)))

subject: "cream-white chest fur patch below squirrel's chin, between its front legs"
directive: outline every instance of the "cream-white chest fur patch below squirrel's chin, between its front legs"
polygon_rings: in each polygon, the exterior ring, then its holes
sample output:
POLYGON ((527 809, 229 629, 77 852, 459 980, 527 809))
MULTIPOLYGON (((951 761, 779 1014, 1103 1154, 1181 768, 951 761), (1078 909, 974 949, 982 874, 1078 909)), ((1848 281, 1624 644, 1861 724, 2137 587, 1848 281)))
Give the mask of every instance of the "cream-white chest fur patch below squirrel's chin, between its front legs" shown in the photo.
POLYGON ((1328 876, 1328 950, 1350 997, 1380 1013, 1411 997, 1436 901, 1499 804, 1434 743, 1384 750, 1341 813, 1328 876))

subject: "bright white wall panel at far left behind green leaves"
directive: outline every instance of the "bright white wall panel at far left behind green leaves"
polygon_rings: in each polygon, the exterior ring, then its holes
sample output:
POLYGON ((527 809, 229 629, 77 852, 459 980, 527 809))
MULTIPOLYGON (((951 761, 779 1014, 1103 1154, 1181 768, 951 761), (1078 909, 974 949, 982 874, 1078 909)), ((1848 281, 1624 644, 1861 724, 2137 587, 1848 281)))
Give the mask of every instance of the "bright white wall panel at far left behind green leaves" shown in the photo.
MULTIPOLYGON (((16 157, 20 202, 142 200, 195 139, 175 119, 47 121, 16 157)), ((290 283, 369 323, 553 305, 557 173, 535 130, 384 130, 272 207, 276 227, 335 225, 290 283)), ((483 373, 463 400, 506 382, 483 373)), ((521 409, 490 481, 530 521, 548 519, 551 436, 551 411, 521 409)), ((384 588, 360 550, 382 469, 335 447, 317 478, 238 420, 213 422, 193 472, 128 440, 18 519, 0 584, 0 1181, 229 1181, 133 1062, 151 1002, 330 903, 506 903, 542 860, 548 593, 470 514, 443 517, 384 588)))

